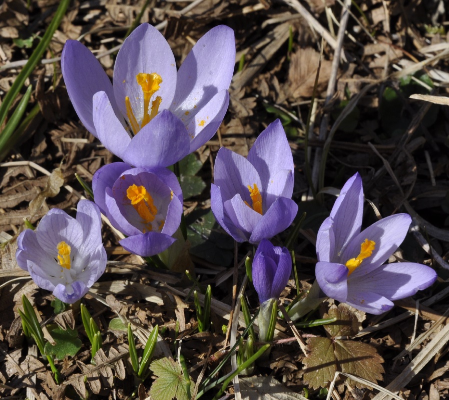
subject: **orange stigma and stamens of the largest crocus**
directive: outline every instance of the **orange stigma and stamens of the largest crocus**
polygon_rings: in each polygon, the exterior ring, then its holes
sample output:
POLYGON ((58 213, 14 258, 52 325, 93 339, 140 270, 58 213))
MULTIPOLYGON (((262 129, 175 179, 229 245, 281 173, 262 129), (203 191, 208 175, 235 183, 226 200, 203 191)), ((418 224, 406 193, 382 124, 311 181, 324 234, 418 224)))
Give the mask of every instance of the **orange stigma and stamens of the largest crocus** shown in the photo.
POLYGON ((126 104, 126 113, 128 115, 128 120, 131 124, 131 128, 134 131, 134 134, 137 134, 141 128, 143 128, 148 122, 150 122, 158 113, 159 106, 162 102, 162 97, 157 96, 151 103, 151 110, 148 112, 150 107, 150 99, 151 96, 156 93, 160 84, 162 83, 161 75, 156 72, 153 73, 145 73, 140 72, 136 75, 137 84, 142 87, 142 91, 144 93, 144 113, 142 117, 142 123, 139 125, 139 122, 134 115, 133 108, 131 106, 131 101, 128 96, 125 97, 126 104))

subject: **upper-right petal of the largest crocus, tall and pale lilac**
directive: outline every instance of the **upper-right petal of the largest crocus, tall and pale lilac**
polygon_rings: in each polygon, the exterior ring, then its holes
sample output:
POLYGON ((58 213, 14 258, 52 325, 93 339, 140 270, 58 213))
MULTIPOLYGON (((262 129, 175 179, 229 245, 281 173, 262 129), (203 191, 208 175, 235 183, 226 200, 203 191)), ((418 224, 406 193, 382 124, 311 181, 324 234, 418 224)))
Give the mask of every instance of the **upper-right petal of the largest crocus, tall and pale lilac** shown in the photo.
POLYGON ((177 115, 185 111, 195 115, 215 94, 229 87, 234 65, 234 31, 224 25, 212 28, 193 46, 179 68, 170 109, 177 115))

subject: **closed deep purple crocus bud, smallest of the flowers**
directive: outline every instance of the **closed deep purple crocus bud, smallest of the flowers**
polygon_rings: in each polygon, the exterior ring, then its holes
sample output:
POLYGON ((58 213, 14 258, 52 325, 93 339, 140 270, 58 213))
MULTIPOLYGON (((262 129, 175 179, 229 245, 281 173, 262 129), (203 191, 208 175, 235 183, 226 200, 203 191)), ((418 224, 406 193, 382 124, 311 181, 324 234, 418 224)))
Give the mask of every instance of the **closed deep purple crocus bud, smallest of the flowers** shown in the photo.
POLYGON ((260 303, 279 298, 291 273, 291 256, 287 247, 274 246, 263 239, 257 247, 252 265, 253 284, 260 303))

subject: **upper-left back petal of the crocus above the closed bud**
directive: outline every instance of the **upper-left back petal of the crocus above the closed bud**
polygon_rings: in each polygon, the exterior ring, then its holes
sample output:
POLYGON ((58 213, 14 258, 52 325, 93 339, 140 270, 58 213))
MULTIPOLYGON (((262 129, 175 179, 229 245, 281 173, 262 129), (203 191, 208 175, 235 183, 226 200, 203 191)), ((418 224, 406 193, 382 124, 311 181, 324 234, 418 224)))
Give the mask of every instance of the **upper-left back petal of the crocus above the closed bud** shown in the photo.
MULTIPOLYGON (((214 183, 220 187, 223 201, 239 193, 244 201, 252 205, 248 185, 257 185, 263 194, 262 182, 254 166, 242 155, 221 147, 215 158, 214 183)), ((263 208, 263 204, 262 204, 263 208)))

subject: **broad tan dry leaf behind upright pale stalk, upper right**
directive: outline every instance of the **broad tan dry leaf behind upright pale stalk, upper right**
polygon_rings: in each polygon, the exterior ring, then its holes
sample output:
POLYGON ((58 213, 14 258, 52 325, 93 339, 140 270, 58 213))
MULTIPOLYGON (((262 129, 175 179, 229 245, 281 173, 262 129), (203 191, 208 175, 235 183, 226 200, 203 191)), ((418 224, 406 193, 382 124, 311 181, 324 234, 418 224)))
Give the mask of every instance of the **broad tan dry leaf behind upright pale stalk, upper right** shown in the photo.
MULTIPOLYGON (((311 97, 315 84, 319 52, 312 47, 299 48, 292 53, 288 69, 288 84, 285 91, 293 98, 311 97)), ((329 80, 332 62, 322 59, 318 78, 318 92, 323 90, 329 80)))

